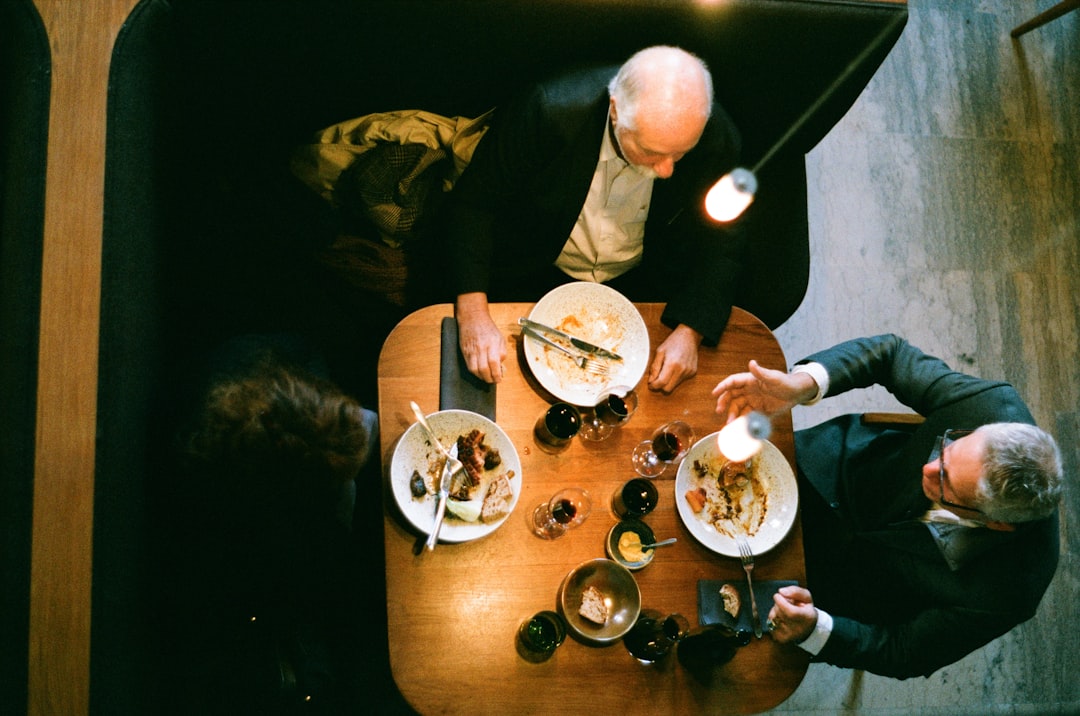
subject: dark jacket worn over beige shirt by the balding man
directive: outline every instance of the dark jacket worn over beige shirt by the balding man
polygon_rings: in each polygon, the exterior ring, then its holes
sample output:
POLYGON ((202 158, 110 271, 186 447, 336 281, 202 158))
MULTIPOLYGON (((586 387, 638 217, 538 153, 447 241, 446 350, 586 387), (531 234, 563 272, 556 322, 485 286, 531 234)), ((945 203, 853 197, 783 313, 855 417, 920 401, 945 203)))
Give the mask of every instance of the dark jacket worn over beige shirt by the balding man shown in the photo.
MULTIPOLYGON (((455 294, 536 300, 581 212, 606 131, 607 83, 618 67, 541 83, 496 111, 450 193, 444 254, 455 294)), ((716 106, 698 146, 653 185, 632 300, 665 301, 663 321, 719 339, 740 275, 742 238, 704 216, 704 195, 732 168, 739 135, 716 106)), ((569 280, 569 279, 567 279, 569 280)))

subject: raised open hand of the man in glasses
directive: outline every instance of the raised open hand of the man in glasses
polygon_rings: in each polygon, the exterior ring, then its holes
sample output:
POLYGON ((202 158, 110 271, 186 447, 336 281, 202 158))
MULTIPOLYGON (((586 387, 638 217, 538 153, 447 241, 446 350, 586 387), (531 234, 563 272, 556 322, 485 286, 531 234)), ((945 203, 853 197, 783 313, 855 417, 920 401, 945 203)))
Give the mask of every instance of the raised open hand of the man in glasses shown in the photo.
POLYGON ((769 416, 791 410, 818 394, 818 383, 806 373, 784 373, 750 362, 750 373, 730 375, 713 389, 716 413, 728 421, 752 410, 769 416))

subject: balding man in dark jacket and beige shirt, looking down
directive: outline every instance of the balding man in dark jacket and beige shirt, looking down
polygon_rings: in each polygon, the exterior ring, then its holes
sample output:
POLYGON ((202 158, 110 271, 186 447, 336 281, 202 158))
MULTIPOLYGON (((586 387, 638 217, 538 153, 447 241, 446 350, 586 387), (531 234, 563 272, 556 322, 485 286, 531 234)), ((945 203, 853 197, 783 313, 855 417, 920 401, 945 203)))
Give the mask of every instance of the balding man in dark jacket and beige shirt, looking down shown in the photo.
POLYGON ((704 214, 738 159, 708 68, 679 48, 570 72, 496 109, 447 199, 445 266, 469 370, 502 377, 507 340, 488 300, 537 300, 570 281, 665 302, 652 390, 698 369, 727 325, 744 240, 704 214))

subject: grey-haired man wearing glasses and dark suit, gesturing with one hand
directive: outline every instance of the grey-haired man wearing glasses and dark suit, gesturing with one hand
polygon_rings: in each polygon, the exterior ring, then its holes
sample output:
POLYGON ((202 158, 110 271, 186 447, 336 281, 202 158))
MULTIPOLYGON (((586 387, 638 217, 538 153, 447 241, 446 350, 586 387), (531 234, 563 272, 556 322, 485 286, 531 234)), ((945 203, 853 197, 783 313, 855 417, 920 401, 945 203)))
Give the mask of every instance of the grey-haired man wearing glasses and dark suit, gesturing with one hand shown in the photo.
POLYGON ((716 411, 775 414, 880 384, 924 420, 847 415, 795 434, 809 589, 781 589, 772 637, 816 661, 929 676, 1031 618, 1057 566, 1062 461, 1012 386, 896 336, 714 390, 716 411))

